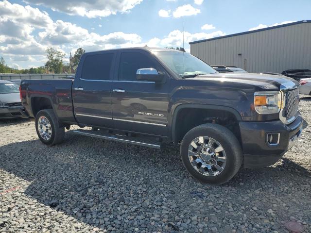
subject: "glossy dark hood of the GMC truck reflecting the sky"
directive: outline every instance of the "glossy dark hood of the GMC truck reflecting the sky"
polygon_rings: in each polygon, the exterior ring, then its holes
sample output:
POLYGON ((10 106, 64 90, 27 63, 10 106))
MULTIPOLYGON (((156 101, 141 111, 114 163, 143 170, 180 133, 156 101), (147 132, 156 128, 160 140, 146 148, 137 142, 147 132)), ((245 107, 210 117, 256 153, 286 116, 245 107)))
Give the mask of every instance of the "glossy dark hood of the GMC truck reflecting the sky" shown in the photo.
MULTIPOLYGON (((191 78, 190 78, 191 79, 191 78)), ((245 83, 257 85, 263 89, 279 89, 280 85, 298 86, 299 83, 294 79, 283 75, 253 74, 253 73, 214 73, 200 75, 193 79, 196 80, 214 80, 221 82, 245 83)))

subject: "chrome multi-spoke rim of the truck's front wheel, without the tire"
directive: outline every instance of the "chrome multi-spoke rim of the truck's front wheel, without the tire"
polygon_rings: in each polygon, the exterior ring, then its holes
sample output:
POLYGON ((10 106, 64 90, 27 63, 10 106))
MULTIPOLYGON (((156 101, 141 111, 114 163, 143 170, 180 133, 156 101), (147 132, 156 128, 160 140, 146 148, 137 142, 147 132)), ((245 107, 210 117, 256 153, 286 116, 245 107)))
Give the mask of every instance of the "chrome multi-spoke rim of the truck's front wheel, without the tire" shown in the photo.
POLYGON ((188 157, 194 169, 205 176, 219 175, 225 169, 227 160, 222 145, 207 136, 200 136, 191 141, 188 157))

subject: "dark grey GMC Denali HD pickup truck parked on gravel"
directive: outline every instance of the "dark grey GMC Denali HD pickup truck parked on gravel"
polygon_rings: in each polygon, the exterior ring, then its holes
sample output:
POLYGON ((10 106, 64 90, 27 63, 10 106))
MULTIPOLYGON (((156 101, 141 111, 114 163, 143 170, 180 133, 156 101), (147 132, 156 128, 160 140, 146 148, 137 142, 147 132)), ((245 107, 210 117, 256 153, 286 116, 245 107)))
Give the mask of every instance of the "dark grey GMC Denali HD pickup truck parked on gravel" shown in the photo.
POLYGON ((25 80, 21 110, 47 145, 74 133, 160 148, 180 144, 201 182, 225 183, 241 167, 269 166, 301 133, 299 83, 250 73, 218 73, 178 50, 87 52, 74 79, 25 80))

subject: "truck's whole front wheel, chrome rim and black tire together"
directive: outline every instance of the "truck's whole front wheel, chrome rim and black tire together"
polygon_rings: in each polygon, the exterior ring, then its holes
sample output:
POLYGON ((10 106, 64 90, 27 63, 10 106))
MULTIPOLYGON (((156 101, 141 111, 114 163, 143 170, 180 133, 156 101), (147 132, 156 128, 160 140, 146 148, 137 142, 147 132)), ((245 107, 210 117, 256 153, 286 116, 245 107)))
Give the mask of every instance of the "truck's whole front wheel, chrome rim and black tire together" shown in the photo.
POLYGON ((239 171, 242 149, 236 136, 224 126, 203 124, 184 136, 181 159, 195 179, 222 184, 239 171))

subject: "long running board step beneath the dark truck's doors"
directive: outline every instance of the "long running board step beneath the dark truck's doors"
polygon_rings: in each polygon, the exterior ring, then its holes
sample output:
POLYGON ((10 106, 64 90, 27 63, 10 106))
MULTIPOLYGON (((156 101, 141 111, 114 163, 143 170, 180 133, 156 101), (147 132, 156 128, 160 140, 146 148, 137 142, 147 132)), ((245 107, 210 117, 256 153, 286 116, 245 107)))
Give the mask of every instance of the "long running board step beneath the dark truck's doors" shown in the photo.
POLYGON ((113 133, 105 133, 99 131, 90 131, 90 130, 74 130, 73 133, 85 135, 89 137, 95 137, 104 140, 110 140, 115 142, 125 142, 129 144, 134 144, 143 147, 150 147, 155 149, 161 149, 161 143, 156 141, 155 138, 147 137, 147 136, 126 136, 122 134, 113 134, 113 133))

